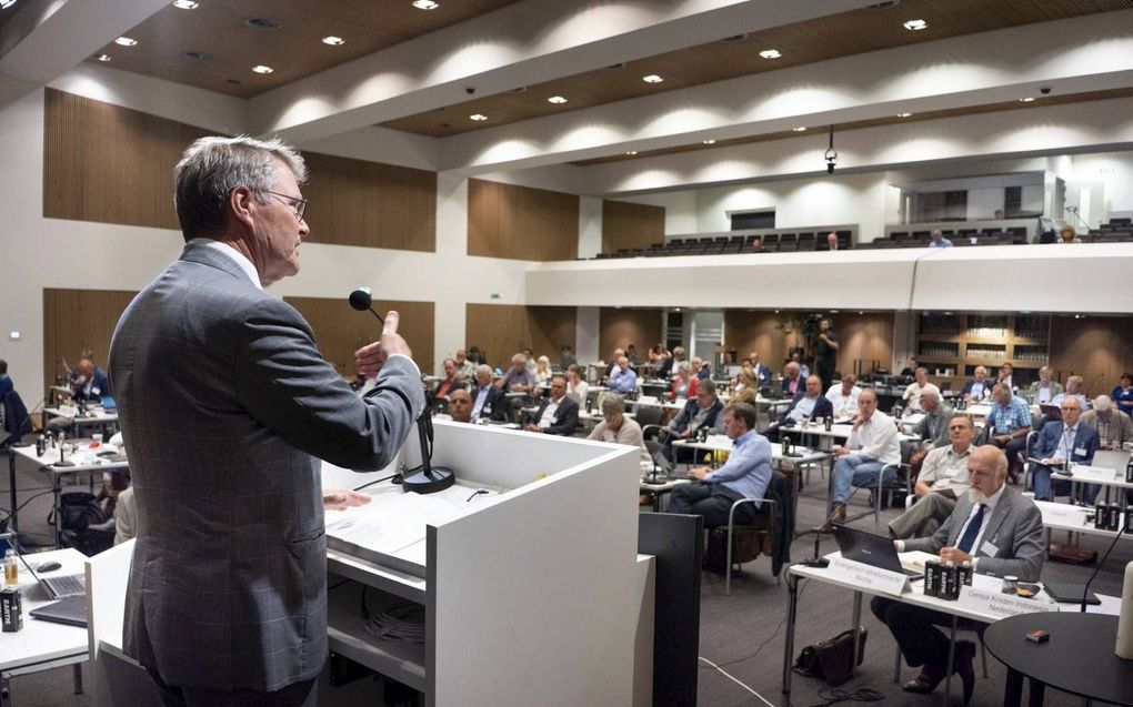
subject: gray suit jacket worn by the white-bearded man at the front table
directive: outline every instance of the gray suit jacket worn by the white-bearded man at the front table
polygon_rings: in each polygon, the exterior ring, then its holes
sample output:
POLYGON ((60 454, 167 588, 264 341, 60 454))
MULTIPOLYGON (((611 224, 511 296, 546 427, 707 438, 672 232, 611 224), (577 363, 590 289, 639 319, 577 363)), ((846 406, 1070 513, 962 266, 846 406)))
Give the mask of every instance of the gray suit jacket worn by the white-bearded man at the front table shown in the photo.
MULTIPOLYGON (((965 493, 957 499, 956 508, 935 535, 906 540, 905 550, 936 554, 942 548, 955 548, 960 542, 960 531, 971 512, 972 502, 965 493)), ((1042 542, 1042 514, 1038 506, 1012 486, 1006 486, 995 511, 985 523, 980 546, 972 553, 979 558, 977 569, 980 574, 996 577, 1014 575, 1023 581, 1038 581, 1042 562, 1047 559, 1042 542), (995 545, 994 555, 985 552, 987 542, 995 545)))

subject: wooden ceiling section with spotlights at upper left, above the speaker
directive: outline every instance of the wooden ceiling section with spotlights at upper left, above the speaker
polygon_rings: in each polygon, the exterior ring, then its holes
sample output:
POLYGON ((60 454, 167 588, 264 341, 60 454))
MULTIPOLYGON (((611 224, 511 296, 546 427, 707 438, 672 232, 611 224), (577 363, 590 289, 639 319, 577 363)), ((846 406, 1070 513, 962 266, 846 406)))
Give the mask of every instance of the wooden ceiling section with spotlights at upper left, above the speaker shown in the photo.
POLYGON ((442 0, 426 11, 409 0, 199 0, 194 10, 170 5, 130 29, 136 46, 111 43, 95 55, 105 53, 109 66, 123 71, 247 98, 516 1, 442 0), (252 29, 249 18, 280 27, 252 29), (346 43, 322 42, 332 35, 346 43), (274 71, 255 74, 257 64, 274 71))

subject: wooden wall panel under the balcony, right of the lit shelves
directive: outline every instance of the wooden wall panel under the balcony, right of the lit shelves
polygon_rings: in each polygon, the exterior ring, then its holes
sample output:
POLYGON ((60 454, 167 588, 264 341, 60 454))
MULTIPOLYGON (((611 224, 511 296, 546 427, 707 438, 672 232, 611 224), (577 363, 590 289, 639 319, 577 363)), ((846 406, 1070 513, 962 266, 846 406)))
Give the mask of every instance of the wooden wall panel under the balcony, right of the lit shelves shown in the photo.
POLYGON ((1050 365, 1064 381, 1081 376, 1090 397, 1109 395, 1133 372, 1133 320, 1126 317, 1051 317, 1050 365))

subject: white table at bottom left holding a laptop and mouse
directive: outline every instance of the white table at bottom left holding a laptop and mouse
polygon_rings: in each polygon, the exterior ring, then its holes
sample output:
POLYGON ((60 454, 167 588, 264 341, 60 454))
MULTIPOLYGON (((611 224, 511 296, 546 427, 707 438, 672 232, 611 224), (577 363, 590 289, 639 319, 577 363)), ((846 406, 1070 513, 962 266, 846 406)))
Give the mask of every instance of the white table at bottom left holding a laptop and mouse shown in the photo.
MULTIPOLYGON (((48 575, 50 577, 82 575, 85 571, 86 558, 73 548, 29 554, 24 559, 33 567, 49 560, 59 562, 62 567, 48 575)), ((0 705, 10 704, 8 681, 11 678, 63 665, 75 666, 75 695, 82 695, 82 664, 86 662, 88 650, 86 629, 31 618, 33 609, 53 600, 48 597, 23 562, 19 564, 18 586, 23 593, 24 630, 0 633, 0 705)))

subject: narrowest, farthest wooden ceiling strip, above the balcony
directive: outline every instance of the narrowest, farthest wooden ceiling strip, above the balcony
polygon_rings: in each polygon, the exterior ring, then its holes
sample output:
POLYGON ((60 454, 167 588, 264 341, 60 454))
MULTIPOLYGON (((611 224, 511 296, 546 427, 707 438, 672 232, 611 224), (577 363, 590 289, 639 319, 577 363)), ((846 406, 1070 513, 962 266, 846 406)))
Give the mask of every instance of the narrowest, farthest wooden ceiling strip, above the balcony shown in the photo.
MULTIPOLYGON (((1021 103, 1017 100, 1004 101, 1000 103, 988 103, 986 105, 973 105, 964 107, 947 109, 943 111, 927 111, 923 113, 914 113, 908 118, 897 118, 893 115, 891 118, 877 118, 874 120, 855 120, 844 123, 837 123, 834 126, 834 146, 838 145, 838 135, 846 132, 849 130, 858 130, 861 128, 876 128, 878 126, 895 126, 897 123, 904 122, 915 122, 919 120, 936 120, 938 118, 956 118, 960 115, 976 115, 978 113, 995 113, 998 111, 1016 111, 1025 110, 1028 107, 1038 107, 1040 105, 1063 105, 1066 103, 1082 103, 1085 101, 1105 101, 1108 98, 1130 98, 1133 97, 1133 87, 1131 88, 1115 88, 1113 90, 1091 90, 1087 93, 1066 94, 1062 96, 1034 96, 1033 103, 1021 103)), ((668 147, 665 149, 644 149, 634 155, 617 154, 611 155, 608 157, 596 157, 594 159, 579 159, 572 162, 571 164, 577 166, 591 166, 595 164, 608 164, 611 162, 624 162, 628 159, 641 159, 644 157, 656 157, 658 155, 675 155, 678 153, 688 153, 698 149, 716 149, 719 147, 729 147, 732 145, 750 145, 751 143, 765 143, 768 140, 785 140, 785 139, 815 139, 813 136, 819 136, 819 140, 825 147, 827 135, 829 131, 829 126, 809 126, 806 132, 795 132, 793 130, 784 130, 780 132, 765 132, 761 135, 753 135, 743 138, 735 138, 731 140, 717 140, 713 145, 705 145, 702 143, 697 143, 696 145, 681 145, 679 147, 668 147)), ((821 164, 815 165, 816 171, 820 171, 821 164)))

